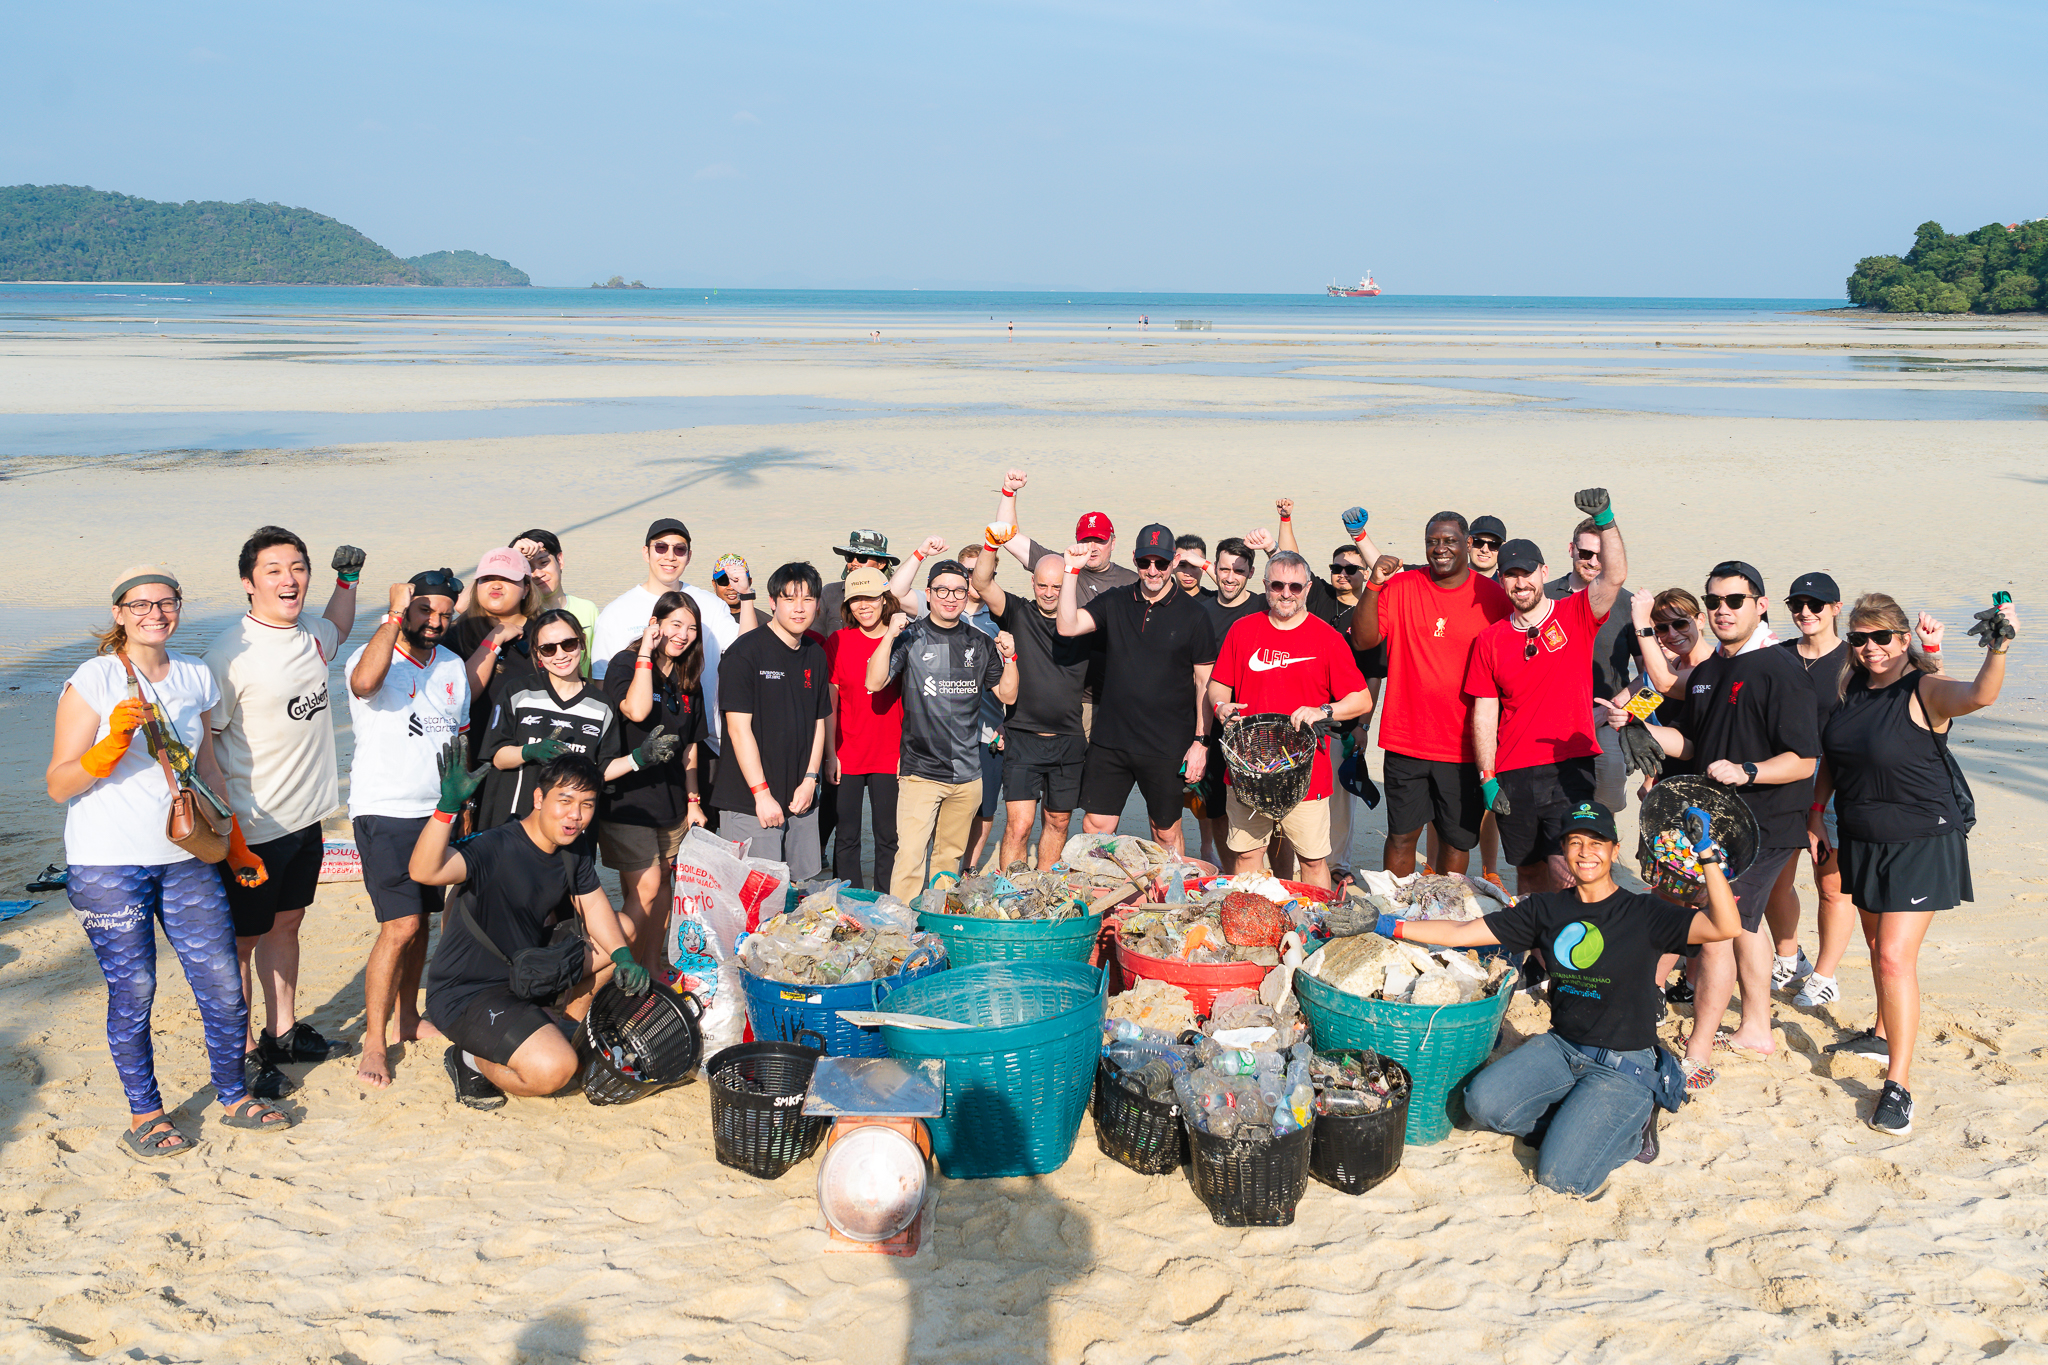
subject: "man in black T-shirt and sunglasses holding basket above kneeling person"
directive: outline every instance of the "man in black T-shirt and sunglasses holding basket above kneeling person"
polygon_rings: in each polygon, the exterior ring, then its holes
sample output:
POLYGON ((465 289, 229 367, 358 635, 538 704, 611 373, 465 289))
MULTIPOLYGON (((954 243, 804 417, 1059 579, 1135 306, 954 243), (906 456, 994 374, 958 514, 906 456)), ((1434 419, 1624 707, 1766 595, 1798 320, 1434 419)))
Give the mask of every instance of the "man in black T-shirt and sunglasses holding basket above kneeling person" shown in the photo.
MULTIPOLYGON (((1651 735, 1671 757, 1692 759, 1698 772, 1735 788, 1757 819, 1757 855, 1735 878, 1743 931, 1735 943, 1700 952, 1694 982, 1694 1027, 1686 1068, 1694 1089, 1714 1081, 1714 1031, 1737 982, 1743 988, 1743 1023, 1729 1046, 1772 1052, 1772 939, 1759 933, 1778 872, 1806 847, 1806 808, 1812 804, 1812 769, 1821 755, 1812 684, 1792 651, 1769 649, 1763 624, 1763 575, 1739 559, 1706 575, 1706 622, 1720 653, 1704 659, 1686 679, 1681 706, 1665 706, 1651 735), (1667 714, 1673 712, 1673 714, 1667 714)), ((1620 708, 1608 708, 1610 714, 1620 708)))

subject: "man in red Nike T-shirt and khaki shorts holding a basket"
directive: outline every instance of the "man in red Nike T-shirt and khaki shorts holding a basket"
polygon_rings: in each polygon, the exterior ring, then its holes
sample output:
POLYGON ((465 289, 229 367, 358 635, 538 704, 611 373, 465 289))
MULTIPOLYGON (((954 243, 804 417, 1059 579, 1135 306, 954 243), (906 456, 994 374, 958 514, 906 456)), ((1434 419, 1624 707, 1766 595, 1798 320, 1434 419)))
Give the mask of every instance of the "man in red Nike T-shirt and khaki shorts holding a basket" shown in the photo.
MULTIPOLYGON (((1309 561, 1278 551, 1266 561, 1266 610, 1243 616, 1223 636, 1208 675, 1208 702, 1229 720, 1245 714, 1286 714, 1294 726, 1354 720, 1372 710, 1372 694, 1358 671, 1352 647, 1335 628, 1309 614, 1309 561)), ((1315 776, 1300 804, 1278 823, 1229 794, 1225 845, 1233 872, 1257 872, 1274 831, 1286 835, 1300 860, 1300 880, 1329 886, 1329 739, 1317 745, 1315 776)))

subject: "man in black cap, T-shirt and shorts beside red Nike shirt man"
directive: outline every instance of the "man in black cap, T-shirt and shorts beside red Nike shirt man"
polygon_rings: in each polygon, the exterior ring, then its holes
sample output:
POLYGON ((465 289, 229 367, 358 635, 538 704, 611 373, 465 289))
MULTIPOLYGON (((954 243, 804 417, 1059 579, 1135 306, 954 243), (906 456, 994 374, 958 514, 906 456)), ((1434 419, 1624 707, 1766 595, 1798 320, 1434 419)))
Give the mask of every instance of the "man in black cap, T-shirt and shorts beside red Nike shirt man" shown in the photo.
POLYGON ((1217 663, 1214 618, 1174 585, 1174 532, 1139 532, 1137 585, 1098 593, 1085 608, 1077 579, 1094 548, 1067 551, 1059 587, 1059 632, 1102 634, 1104 667, 1096 724, 1081 767, 1081 829, 1116 831, 1133 784, 1145 796, 1151 835, 1182 849, 1180 808, 1208 757, 1208 671, 1217 663))

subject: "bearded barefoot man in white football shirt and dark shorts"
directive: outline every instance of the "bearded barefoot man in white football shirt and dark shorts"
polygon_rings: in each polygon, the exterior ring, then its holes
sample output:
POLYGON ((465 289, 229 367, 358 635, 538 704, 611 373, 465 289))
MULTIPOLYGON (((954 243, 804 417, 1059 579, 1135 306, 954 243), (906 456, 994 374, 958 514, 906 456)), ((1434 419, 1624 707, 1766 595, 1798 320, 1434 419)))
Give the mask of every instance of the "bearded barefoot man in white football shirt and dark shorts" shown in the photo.
POLYGON ((436 759, 469 729, 469 669, 440 647, 463 583, 449 569, 391 585, 391 610, 348 659, 348 720, 356 749, 348 767, 348 823, 362 855, 362 888, 377 911, 377 941, 362 968, 367 1027, 356 1081, 391 1085, 387 1025, 397 1005, 397 1042, 438 1038, 420 1019, 426 917, 440 888, 420 886, 406 866, 440 798, 436 759))

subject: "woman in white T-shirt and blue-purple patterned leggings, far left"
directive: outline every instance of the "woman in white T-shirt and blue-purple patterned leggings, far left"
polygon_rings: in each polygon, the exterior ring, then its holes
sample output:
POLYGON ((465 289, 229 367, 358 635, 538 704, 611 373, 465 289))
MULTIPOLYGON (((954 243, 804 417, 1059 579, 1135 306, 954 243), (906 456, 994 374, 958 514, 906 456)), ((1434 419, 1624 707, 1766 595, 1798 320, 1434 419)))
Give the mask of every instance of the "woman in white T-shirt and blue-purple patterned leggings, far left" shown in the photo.
MULTIPOLYGON (((66 894, 106 978, 106 1048, 129 1103, 121 1144, 141 1158, 197 1146, 164 1113, 156 1085, 150 1009, 158 923, 199 1005, 221 1121, 252 1130, 293 1126, 283 1109, 248 1097, 242 1056, 250 1015, 221 876, 164 831, 172 792, 158 755, 188 767, 211 790, 227 790, 207 733, 219 686, 201 659, 168 647, 182 610, 172 573, 154 565, 121 573, 113 624, 57 696, 43 776, 49 798, 66 804, 63 853, 72 864, 66 894)), ((264 878, 240 823, 229 829, 227 864, 250 886, 264 878)))

